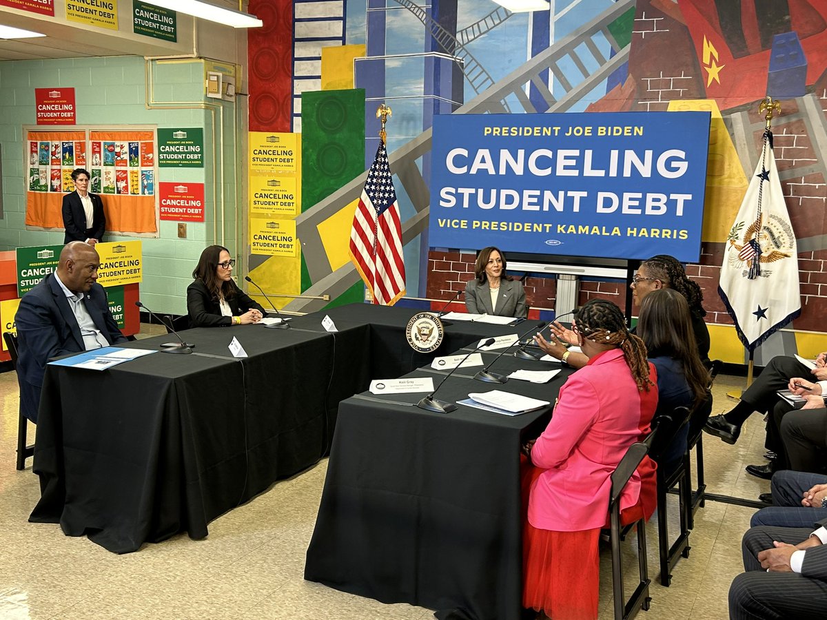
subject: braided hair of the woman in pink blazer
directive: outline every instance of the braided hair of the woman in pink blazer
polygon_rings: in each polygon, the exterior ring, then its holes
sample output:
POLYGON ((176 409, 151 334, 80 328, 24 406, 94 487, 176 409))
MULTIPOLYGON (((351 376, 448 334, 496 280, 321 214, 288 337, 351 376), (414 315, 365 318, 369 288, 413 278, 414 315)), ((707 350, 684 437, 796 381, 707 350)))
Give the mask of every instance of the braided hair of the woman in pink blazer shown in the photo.
POLYGON ((649 391, 653 381, 649 379, 646 345, 629 332, 620 308, 605 299, 591 299, 577 312, 576 326, 581 336, 590 341, 619 346, 638 390, 649 391))

